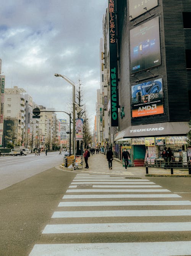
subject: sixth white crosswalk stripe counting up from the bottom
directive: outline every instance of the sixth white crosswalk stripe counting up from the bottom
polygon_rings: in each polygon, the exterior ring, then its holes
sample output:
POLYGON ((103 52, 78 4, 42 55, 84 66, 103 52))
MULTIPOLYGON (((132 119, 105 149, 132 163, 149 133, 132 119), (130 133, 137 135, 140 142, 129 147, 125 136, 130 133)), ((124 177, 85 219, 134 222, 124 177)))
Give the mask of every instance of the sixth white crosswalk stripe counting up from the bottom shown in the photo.
POLYGON ((76 192, 171 192, 168 189, 68 189, 66 193, 76 192))

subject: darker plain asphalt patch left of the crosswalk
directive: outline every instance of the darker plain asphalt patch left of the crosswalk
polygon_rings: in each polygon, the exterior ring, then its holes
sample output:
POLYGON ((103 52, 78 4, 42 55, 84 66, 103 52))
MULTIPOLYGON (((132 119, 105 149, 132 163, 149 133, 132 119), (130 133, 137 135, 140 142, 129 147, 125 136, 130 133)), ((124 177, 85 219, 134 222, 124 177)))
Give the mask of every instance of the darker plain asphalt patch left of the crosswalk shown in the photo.
POLYGON ((29 255, 74 174, 52 167, 26 176, 0 190, 0 256, 29 255))

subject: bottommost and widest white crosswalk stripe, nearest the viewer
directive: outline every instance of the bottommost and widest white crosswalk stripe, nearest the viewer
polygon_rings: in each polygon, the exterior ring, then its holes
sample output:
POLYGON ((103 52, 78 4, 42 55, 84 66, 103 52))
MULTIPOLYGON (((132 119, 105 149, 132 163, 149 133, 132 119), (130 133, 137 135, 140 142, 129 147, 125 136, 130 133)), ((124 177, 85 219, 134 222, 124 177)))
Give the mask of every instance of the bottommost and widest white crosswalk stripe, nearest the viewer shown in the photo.
POLYGON ((191 241, 146 243, 35 244, 29 256, 191 255, 191 241))

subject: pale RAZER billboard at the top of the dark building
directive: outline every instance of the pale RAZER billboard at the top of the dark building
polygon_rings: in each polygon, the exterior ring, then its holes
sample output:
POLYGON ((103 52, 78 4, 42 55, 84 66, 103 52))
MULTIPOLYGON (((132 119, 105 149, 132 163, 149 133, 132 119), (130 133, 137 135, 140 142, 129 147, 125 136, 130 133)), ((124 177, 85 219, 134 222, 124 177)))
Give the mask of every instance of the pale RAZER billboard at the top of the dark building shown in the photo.
POLYGON ((157 5, 158 0, 129 0, 129 20, 138 17, 157 5))

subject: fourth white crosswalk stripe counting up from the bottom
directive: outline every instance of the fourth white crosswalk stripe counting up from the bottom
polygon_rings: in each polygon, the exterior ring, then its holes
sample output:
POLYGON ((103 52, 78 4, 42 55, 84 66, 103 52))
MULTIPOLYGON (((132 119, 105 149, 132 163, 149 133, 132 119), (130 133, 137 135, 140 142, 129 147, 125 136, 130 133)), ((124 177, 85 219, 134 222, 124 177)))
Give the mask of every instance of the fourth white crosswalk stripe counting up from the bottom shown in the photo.
POLYGON ((60 202, 58 207, 75 206, 130 206, 130 205, 191 205, 191 201, 76 201, 60 202))

